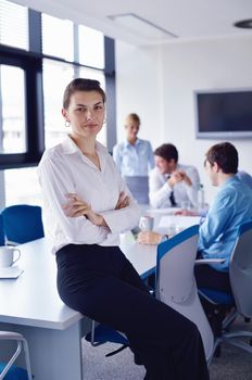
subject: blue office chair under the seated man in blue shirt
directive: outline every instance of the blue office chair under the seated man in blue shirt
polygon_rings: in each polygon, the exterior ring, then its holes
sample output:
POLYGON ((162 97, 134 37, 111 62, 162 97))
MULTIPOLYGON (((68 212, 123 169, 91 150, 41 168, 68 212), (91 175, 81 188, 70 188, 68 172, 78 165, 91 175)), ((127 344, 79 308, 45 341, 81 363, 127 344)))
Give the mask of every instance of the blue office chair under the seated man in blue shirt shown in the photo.
MULTIPOLYGON (((201 262, 207 263, 207 259, 201 262)), ((252 220, 242 224, 238 229, 229 262, 229 278, 230 293, 199 289, 214 331, 217 356, 220 354, 222 342, 252 354, 252 332, 231 331, 231 325, 238 315, 248 320, 252 317, 252 220)))

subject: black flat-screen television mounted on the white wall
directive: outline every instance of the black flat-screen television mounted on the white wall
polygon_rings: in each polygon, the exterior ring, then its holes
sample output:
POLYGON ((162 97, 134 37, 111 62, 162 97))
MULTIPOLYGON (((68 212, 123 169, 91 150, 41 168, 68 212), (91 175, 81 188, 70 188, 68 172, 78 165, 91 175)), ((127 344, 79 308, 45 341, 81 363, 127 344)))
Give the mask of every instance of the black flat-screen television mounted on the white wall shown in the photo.
POLYGON ((194 91, 198 139, 252 138, 252 89, 194 91))

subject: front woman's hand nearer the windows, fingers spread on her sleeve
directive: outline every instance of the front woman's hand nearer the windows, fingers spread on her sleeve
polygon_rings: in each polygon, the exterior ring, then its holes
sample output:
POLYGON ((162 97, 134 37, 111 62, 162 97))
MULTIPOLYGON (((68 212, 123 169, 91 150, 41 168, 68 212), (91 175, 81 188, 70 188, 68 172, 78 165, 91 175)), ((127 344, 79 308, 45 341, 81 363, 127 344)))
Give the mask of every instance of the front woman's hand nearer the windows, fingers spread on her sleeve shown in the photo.
POLYGON ((105 220, 99 214, 96 214, 90 205, 81 200, 76 193, 66 194, 67 202, 63 205, 66 216, 77 217, 86 216, 96 226, 106 226, 105 220))

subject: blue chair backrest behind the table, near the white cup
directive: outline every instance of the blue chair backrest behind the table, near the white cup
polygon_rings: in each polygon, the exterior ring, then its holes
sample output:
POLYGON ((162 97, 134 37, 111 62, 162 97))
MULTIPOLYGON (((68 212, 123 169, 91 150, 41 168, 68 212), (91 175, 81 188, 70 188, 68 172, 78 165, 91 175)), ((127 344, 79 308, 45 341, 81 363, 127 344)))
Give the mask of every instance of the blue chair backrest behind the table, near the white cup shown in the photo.
POLYGON ((2 211, 7 240, 13 243, 26 243, 42 238, 43 226, 41 207, 18 204, 2 211))

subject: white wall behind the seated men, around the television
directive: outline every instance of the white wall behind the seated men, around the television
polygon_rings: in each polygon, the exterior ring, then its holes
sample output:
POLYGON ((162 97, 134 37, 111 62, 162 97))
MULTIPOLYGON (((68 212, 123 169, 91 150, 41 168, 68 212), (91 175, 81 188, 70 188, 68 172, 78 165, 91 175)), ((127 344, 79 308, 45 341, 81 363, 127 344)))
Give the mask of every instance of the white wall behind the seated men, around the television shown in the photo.
MULTIPOLYGON (((252 38, 167 43, 160 50, 117 42, 116 73, 118 122, 131 111, 127 106, 135 105, 144 117, 141 136, 150 139, 153 148, 173 142, 180 162, 199 168, 211 202, 215 190, 202 165, 205 151, 218 140, 196 140, 193 90, 252 87, 252 38)), ((118 129, 119 137, 122 127, 118 129)), ((229 141, 239 151, 240 168, 252 174, 252 140, 229 141)))

